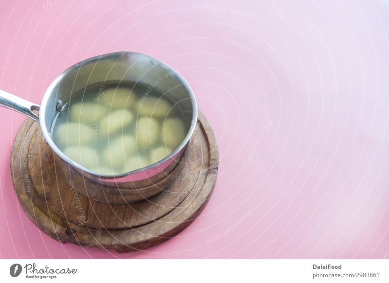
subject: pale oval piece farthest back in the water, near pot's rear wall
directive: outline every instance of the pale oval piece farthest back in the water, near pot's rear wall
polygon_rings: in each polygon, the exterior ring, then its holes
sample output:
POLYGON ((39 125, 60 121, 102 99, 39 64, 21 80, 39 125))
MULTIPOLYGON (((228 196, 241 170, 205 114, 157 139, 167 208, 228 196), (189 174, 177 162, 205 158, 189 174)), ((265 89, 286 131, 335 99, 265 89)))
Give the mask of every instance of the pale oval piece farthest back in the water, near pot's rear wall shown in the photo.
POLYGON ((104 90, 101 96, 101 104, 108 109, 115 108, 130 108, 136 102, 137 96, 130 88, 127 87, 112 87, 104 90))

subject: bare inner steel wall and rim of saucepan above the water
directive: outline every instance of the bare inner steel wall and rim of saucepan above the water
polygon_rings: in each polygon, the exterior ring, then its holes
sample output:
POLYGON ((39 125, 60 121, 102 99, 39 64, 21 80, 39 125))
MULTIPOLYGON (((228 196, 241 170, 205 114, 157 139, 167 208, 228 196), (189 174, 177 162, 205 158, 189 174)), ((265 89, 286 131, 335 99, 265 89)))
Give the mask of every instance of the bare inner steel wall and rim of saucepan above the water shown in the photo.
MULTIPOLYGON (((79 99, 86 89, 118 83, 141 87, 144 90, 143 100, 148 99, 151 90, 177 106, 182 121, 187 125, 187 133, 170 156, 177 154, 189 141, 197 120, 197 105, 188 83, 174 69, 157 59, 140 53, 116 52, 93 57, 70 67, 47 89, 40 108, 40 124, 45 140, 62 159, 67 157, 53 141, 55 119, 66 111, 69 102, 79 99)), ((94 173, 78 164, 72 165, 94 173)))

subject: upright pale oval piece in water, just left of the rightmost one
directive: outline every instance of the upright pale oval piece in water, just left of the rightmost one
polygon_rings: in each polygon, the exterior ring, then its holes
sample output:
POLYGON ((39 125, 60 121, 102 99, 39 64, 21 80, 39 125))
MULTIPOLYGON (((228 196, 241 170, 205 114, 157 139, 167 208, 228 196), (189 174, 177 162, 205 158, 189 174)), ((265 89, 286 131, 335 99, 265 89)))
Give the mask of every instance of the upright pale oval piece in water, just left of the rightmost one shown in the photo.
POLYGON ((154 118, 142 117, 138 119, 136 138, 139 147, 148 149, 152 147, 159 138, 159 123, 154 118))

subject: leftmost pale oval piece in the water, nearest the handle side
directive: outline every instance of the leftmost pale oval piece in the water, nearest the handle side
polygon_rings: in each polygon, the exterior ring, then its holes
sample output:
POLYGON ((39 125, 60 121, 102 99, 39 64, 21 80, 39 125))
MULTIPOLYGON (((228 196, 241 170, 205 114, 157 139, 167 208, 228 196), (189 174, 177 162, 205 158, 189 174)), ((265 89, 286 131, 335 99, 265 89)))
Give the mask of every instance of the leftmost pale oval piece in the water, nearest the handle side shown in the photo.
POLYGON ((63 123, 54 128, 54 138, 61 146, 92 145, 93 129, 80 123, 63 123))

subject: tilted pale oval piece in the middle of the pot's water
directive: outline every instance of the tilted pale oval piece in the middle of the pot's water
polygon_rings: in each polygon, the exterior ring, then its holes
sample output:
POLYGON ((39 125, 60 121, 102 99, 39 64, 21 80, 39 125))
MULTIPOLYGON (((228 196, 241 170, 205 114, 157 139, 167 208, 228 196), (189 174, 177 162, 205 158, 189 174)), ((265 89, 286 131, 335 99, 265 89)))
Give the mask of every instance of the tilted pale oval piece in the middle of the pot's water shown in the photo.
POLYGON ((98 125, 98 134, 106 135, 121 131, 124 127, 131 124, 134 115, 125 109, 119 109, 111 112, 103 118, 98 125))

